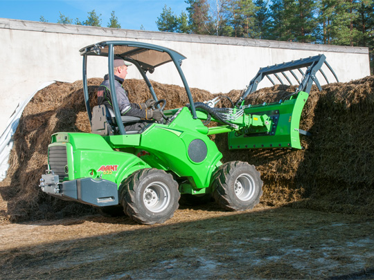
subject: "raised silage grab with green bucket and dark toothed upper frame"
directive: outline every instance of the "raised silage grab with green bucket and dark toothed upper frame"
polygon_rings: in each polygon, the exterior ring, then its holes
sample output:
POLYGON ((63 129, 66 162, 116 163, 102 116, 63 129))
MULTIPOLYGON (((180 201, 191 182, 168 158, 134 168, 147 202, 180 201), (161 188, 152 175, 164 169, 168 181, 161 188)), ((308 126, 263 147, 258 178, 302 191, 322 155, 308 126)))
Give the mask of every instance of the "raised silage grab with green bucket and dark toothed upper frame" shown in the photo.
POLYGON ((305 102, 308 100, 312 84, 316 84, 321 91, 321 84, 317 79, 317 73, 321 75, 329 84, 328 77, 322 70, 326 68, 338 81, 337 75, 326 62, 325 55, 316 55, 304 59, 275 64, 260 68, 256 76, 251 80, 247 89, 235 102, 234 111, 242 112, 247 116, 247 123, 239 129, 229 133, 229 149, 269 149, 269 148, 295 148, 301 149, 299 133, 307 134, 299 129, 301 112, 305 102), (306 68, 305 73, 303 68, 306 68), (296 75, 296 73, 297 75, 296 75), (290 73, 287 76, 287 73, 290 73), (279 75, 281 74, 281 75, 279 75), (299 76, 302 76, 299 80, 299 76), (290 94, 290 99, 280 100, 274 103, 263 103, 258 105, 244 105, 245 98, 256 91, 258 84, 265 78, 274 85, 274 80, 281 84, 292 85, 292 80, 299 84, 295 93, 290 94), (283 78, 283 80, 282 80, 283 78))

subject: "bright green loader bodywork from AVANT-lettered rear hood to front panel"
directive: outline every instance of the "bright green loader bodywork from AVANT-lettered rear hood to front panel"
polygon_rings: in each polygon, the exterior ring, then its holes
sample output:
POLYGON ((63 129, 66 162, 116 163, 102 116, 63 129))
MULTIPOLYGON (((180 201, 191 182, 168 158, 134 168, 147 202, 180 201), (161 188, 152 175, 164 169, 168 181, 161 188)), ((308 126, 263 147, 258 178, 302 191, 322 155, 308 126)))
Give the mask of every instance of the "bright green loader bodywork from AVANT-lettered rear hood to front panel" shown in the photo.
POLYGON ((141 134, 102 137, 56 133, 50 145, 66 146, 69 180, 103 178, 119 187, 134 171, 157 168, 172 171, 176 179, 184 180, 181 192, 204 193, 206 190, 201 189, 211 185, 211 176, 222 158, 207 133, 208 128, 184 107, 170 124, 151 124, 141 134), (202 146, 201 153, 199 149, 189 152, 195 147, 193 141, 202 146))

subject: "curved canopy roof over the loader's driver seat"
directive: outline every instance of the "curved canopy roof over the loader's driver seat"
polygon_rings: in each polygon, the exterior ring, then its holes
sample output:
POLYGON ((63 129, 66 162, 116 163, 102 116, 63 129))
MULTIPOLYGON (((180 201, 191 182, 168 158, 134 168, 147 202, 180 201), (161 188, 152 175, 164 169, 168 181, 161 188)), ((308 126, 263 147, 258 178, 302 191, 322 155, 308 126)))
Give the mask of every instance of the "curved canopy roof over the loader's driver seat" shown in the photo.
POLYGON ((141 43, 137 41, 102 41, 84 47, 80 50, 80 55, 96 55, 107 57, 109 53, 109 46, 114 46, 114 55, 122 57, 128 62, 138 62, 141 68, 152 73, 154 68, 172 62, 179 62, 186 59, 184 55, 152 44, 141 43))

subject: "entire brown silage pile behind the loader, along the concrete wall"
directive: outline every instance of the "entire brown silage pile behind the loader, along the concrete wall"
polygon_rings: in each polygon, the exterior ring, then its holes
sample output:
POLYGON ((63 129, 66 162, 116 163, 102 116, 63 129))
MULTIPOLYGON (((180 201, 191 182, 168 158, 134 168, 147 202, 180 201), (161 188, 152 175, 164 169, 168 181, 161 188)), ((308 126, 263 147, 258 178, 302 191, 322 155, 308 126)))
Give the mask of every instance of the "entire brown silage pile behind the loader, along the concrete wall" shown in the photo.
MULTIPOLYGON (((89 80, 90 103, 96 103, 96 90, 102 79, 89 80)), ((188 103, 184 88, 152 82, 166 109, 188 103)), ((124 87, 132 102, 150 98, 143 81, 127 80, 124 87)), ((274 86, 256 91, 246 104, 261 104, 284 99, 294 87, 274 86)), ((195 102, 214 97, 208 91, 191 89, 195 102)), ((226 96, 233 101, 240 91, 226 96)), ((230 106, 224 99, 220 106, 230 106)), ((243 160, 262 174, 267 205, 293 205, 326 211, 374 214, 374 77, 349 83, 312 89, 303 110, 301 129, 312 136, 302 136, 303 150, 227 149, 227 135, 217 135, 223 162, 243 160)), ((69 203, 42 194, 39 178, 46 169, 47 147, 57 131, 89 132, 82 81, 57 82, 39 91, 30 101, 15 133, 8 176, 0 183, 0 215, 12 221, 55 218, 87 213, 91 207, 69 203)))

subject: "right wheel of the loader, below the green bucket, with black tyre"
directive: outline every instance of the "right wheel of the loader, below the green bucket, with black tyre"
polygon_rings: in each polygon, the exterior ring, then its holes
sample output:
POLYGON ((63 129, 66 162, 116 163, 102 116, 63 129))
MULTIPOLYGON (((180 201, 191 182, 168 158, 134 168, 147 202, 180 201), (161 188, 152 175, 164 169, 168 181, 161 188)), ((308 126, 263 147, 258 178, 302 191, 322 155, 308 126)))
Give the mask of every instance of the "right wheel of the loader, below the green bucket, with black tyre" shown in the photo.
POLYGON ((213 197, 220 207, 244 211, 260 203, 262 180, 253 165, 241 161, 226 162, 213 178, 213 197))

